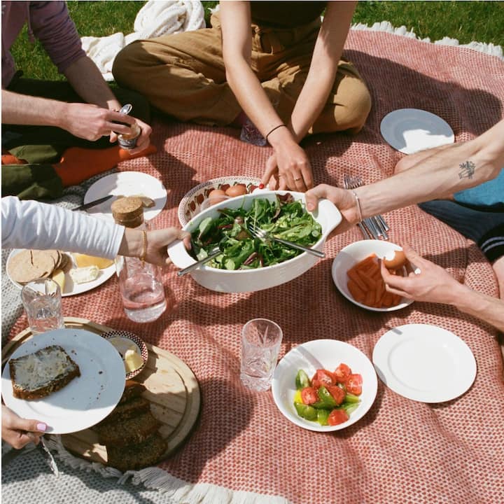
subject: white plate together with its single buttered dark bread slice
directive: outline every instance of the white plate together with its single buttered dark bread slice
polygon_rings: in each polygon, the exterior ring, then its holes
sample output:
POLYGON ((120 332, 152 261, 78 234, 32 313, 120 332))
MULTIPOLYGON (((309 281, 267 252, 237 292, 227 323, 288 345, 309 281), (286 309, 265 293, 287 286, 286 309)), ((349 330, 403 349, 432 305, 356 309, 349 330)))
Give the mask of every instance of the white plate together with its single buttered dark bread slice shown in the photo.
POLYGON ((124 387, 116 349, 100 335, 76 328, 31 337, 13 351, 1 376, 6 406, 22 418, 43 421, 50 434, 98 423, 116 407, 124 387))

